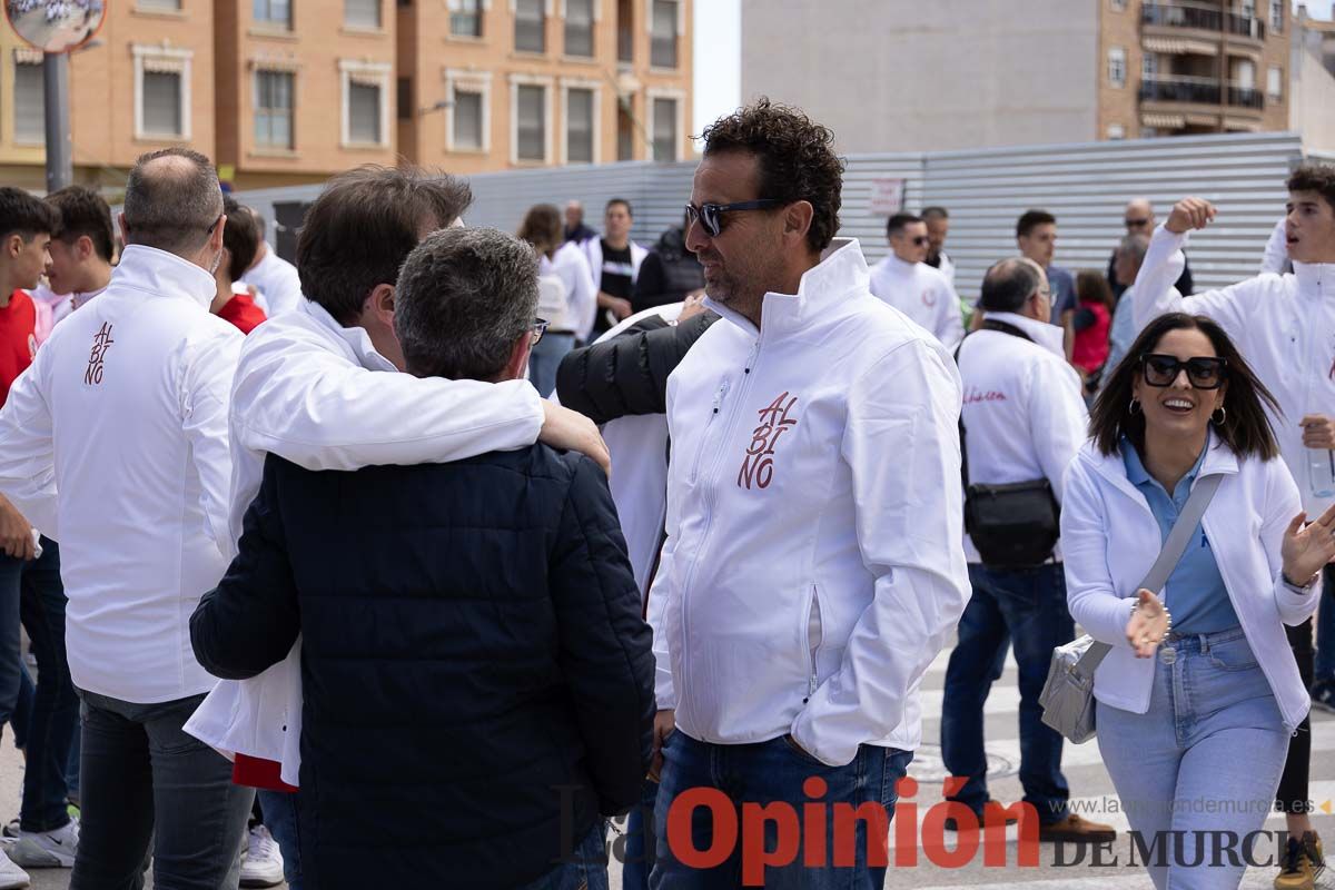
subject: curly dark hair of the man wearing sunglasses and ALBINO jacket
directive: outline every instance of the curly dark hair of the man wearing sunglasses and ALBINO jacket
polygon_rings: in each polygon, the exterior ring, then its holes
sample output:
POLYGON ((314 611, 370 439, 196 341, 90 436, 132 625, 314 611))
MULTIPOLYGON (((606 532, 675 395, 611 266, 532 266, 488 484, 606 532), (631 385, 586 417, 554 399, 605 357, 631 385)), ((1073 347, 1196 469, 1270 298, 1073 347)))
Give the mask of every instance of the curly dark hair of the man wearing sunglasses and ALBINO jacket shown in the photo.
POLYGON ((760 197, 785 204, 809 201, 814 209, 806 243, 821 252, 838 231, 844 160, 834 133, 797 108, 769 99, 720 117, 705 128, 705 156, 748 152, 760 159, 760 197))

